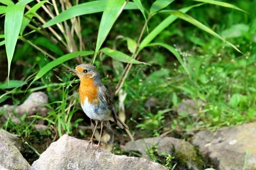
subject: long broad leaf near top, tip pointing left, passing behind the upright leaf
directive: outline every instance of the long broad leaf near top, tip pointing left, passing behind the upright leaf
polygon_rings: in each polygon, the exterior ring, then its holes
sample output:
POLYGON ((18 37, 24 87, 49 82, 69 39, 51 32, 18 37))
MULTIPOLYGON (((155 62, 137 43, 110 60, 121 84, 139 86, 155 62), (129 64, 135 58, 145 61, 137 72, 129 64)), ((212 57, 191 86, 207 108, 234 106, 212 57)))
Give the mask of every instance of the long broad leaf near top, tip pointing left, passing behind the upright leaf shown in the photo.
MULTIPOLYGON (((94 14, 102 12, 106 6, 107 0, 95 0, 91 2, 82 3, 75 5, 71 8, 68 8, 66 11, 60 13, 53 19, 46 22, 43 27, 50 27, 59 22, 69 20, 73 17, 85 15, 85 14, 94 14)), ((138 9, 133 2, 128 2, 124 9, 138 9)))

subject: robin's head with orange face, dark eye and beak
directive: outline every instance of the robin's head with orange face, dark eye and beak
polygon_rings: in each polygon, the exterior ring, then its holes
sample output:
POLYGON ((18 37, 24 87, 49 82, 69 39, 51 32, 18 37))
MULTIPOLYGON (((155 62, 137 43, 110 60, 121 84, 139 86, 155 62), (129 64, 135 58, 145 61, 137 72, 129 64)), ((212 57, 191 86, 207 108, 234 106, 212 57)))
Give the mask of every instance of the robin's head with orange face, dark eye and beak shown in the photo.
POLYGON ((100 77, 98 69, 92 64, 80 64, 75 69, 68 70, 76 74, 80 80, 84 78, 100 77))

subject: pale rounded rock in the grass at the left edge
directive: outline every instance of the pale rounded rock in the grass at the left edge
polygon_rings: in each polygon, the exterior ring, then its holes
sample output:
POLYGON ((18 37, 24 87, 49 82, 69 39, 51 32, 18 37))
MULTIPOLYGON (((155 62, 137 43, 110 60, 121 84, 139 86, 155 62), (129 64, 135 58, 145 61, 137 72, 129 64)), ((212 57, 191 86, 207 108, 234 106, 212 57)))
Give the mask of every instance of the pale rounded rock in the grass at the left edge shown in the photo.
MULTIPOLYGON (((11 120, 16 124, 20 123, 17 116, 21 117, 23 114, 27 113, 29 116, 38 113, 39 116, 47 116, 48 109, 44 104, 48 103, 48 96, 44 92, 33 92, 29 97, 19 106, 4 105, 0 107, 0 111, 5 112, 3 117, 7 119, 11 117, 11 120), (13 113, 16 113, 16 115, 13 113)), ((2 119, 2 118, 1 118, 2 119)), ((38 124, 44 124, 44 120, 40 119, 37 121, 38 124)))

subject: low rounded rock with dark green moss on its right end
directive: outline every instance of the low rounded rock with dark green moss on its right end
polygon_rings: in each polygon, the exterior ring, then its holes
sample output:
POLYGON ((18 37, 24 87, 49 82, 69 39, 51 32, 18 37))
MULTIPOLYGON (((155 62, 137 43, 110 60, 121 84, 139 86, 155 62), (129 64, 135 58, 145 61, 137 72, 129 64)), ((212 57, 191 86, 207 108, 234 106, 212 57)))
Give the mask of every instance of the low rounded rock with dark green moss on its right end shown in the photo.
POLYGON ((173 137, 151 137, 128 142, 124 146, 126 151, 139 151, 148 159, 146 149, 157 147, 166 155, 175 156, 174 160, 181 169, 202 170, 204 161, 201 153, 189 142, 173 137))

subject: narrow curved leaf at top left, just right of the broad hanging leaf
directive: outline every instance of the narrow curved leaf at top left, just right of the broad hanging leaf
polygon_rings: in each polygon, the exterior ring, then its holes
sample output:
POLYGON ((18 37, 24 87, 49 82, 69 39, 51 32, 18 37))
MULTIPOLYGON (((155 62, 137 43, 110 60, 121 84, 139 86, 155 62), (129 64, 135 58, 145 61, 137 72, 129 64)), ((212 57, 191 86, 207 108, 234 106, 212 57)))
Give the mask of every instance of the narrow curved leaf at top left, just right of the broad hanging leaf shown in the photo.
MULTIPOLYGON (((26 12, 25 15, 27 15, 29 18, 33 18, 33 16, 35 15, 35 13, 37 12, 37 10, 42 7, 42 5, 44 5, 44 3, 46 2, 47 0, 43 0, 43 1, 40 1, 39 3, 37 3, 34 7, 32 7, 31 9, 29 9, 28 12, 26 12)), ((30 20, 26 17, 23 17, 22 19, 22 27, 21 27, 21 30, 20 30, 20 34, 22 35, 23 31, 25 30, 25 28, 29 25, 29 22, 30 20)))

